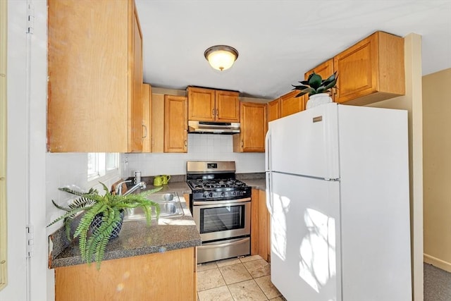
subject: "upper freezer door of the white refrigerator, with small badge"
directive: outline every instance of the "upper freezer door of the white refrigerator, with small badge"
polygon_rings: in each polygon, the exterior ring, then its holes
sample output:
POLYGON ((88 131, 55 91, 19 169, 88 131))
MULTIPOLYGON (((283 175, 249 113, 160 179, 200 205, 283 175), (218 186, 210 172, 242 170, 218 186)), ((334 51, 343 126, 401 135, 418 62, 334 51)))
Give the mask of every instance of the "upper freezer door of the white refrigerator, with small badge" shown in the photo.
POLYGON ((337 104, 324 104, 271 121, 266 169, 318 178, 340 178, 337 104))

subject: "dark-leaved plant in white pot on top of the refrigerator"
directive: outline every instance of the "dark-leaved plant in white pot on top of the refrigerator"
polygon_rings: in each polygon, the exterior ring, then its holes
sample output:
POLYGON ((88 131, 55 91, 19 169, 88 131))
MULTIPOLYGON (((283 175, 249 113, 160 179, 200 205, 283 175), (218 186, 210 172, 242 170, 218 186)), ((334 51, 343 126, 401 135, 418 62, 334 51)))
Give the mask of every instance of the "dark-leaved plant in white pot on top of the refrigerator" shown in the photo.
POLYGON ((319 106, 320 104, 332 102, 330 93, 332 92, 332 89, 336 88, 337 79, 337 71, 326 78, 326 80, 323 80, 321 75, 313 72, 309 75, 307 80, 302 80, 302 82, 300 82, 301 85, 292 85, 294 87, 292 90, 300 90, 299 94, 295 97, 301 97, 307 93, 309 94, 307 109, 310 109, 314 106, 319 106))

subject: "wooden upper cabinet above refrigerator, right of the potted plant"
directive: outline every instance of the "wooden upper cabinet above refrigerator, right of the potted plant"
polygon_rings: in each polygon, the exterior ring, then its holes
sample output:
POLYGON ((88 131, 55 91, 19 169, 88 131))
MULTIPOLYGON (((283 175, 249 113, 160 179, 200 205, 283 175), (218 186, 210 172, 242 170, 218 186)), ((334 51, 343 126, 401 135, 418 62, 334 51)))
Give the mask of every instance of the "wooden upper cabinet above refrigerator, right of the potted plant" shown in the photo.
POLYGON ((404 39, 375 32, 333 58, 335 102, 365 105, 405 94, 404 39))

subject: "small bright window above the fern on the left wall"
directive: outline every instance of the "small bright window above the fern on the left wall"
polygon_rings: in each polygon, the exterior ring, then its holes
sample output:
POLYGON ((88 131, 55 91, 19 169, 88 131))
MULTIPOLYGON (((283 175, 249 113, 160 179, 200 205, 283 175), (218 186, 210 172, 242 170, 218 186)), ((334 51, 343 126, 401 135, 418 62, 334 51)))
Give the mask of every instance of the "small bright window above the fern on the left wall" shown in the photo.
POLYGON ((111 174, 117 174, 118 153, 89 152, 87 154, 87 180, 94 180, 111 174))

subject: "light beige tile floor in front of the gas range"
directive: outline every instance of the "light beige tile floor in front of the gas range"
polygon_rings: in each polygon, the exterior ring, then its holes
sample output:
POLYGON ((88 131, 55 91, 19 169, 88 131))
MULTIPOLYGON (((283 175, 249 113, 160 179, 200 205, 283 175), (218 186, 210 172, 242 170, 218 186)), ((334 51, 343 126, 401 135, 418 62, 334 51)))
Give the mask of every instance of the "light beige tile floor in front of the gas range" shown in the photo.
POLYGON ((269 264, 259 255, 197 265, 198 301, 285 301, 270 279, 269 264))

